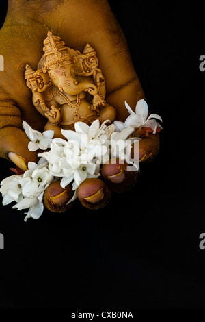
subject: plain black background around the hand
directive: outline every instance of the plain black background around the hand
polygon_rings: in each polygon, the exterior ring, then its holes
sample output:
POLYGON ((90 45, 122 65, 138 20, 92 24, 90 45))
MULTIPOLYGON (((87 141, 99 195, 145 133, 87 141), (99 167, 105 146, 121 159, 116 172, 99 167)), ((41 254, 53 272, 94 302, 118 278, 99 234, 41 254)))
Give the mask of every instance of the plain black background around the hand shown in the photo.
MULTIPOLYGON (((150 111, 163 118, 159 156, 141 166, 133 190, 96 212, 77 201, 25 223, 1 206, 0 308, 204 308, 204 11, 110 3, 150 111)), ((9 166, 1 160, 1 179, 9 166)))

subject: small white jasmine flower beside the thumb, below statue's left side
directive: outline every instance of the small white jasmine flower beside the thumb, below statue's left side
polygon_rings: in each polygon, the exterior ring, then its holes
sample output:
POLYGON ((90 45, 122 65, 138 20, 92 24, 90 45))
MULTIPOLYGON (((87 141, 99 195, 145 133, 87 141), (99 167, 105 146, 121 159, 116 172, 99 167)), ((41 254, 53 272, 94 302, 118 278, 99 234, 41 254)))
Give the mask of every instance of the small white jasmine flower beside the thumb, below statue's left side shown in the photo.
POLYGON ((28 145, 29 151, 36 151, 38 149, 46 150, 50 147, 54 131, 49 130, 40 133, 39 131, 32 129, 25 121, 23 121, 23 129, 31 140, 28 145))

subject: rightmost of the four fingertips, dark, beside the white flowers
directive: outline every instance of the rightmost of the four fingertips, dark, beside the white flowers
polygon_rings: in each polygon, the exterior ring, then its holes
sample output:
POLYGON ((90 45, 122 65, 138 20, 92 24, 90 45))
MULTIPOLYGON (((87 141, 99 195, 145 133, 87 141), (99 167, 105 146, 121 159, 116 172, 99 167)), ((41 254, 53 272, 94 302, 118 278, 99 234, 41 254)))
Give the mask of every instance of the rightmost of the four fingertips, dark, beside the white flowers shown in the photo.
POLYGON ((133 144, 132 158, 140 162, 151 162, 159 153, 159 134, 148 134, 148 138, 143 138, 133 144))

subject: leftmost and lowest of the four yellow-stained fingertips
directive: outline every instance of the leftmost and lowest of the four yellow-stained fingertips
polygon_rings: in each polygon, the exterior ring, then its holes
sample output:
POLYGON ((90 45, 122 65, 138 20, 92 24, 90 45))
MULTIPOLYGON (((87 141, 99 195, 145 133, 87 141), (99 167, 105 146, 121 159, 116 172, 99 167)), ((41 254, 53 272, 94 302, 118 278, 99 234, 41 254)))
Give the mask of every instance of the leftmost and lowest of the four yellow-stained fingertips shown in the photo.
POLYGON ((52 212, 64 212, 73 204, 68 203, 72 195, 73 191, 69 185, 62 188, 60 181, 52 182, 44 192, 44 206, 52 212))

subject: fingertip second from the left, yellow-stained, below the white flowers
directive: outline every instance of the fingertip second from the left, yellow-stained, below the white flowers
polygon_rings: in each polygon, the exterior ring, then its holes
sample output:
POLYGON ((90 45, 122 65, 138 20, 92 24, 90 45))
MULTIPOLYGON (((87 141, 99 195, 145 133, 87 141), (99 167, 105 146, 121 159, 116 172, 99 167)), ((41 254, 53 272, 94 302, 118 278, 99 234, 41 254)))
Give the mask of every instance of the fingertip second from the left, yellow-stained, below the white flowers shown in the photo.
POLYGON ((79 201, 85 208, 100 209, 109 203, 111 199, 111 190, 98 178, 85 179, 77 191, 79 201))

